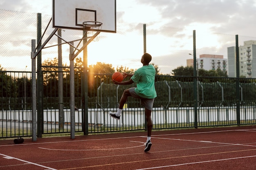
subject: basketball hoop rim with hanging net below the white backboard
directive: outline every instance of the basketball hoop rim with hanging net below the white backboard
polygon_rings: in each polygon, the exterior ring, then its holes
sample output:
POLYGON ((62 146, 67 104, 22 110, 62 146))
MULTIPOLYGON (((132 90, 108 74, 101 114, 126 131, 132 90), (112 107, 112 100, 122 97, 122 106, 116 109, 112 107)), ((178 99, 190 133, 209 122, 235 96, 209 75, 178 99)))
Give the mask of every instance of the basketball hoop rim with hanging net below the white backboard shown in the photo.
MULTIPOLYGON (((83 29, 87 33, 87 37, 92 37, 97 31, 101 30, 102 23, 97 21, 83 22, 83 29)), ((93 41, 99 41, 99 35, 93 39, 93 41)))

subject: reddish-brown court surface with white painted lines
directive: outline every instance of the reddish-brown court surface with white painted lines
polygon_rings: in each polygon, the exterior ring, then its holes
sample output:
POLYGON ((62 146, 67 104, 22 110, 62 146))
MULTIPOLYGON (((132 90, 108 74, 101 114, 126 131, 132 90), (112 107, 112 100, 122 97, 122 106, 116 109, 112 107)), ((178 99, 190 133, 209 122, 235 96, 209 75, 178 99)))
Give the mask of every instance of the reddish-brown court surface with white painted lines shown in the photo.
POLYGON ((253 170, 256 126, 0 140, 1 170, 253 170))

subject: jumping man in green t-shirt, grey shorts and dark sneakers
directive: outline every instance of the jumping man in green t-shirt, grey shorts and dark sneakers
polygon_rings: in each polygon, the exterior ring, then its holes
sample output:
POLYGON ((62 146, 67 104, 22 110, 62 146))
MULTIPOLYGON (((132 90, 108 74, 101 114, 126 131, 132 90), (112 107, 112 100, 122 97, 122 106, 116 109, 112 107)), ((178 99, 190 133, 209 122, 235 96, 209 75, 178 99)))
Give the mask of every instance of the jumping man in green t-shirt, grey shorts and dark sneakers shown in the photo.
POLYGON ((134 74, 123 73, 124 78, 130 76, 130 80, 123 82, 112 80, 113 83, 117 85, 130 85, 132 83, 137 83, 137 87, 132 87, 130 89, 124 90, 124 93, 122 94, 122 97, 119 101, 119 109, 117 110, 117 112, 109 112, 109 115, 112 118, 120 120, 121 111, 123 110, 127 97, 132 96, 134 98, 140 99, 140 104, 145 107, 145 116, 148 128, 148 137, 144 152, 148 152, 152 145, 150 141, 153 126, 151 119, 151 111, 153 108, 154 100, 157 97, 157 93, 155 91, 155 67, 149 64, 151 59, 152 57, 150 54, 144 53, 141 57, 141 63, 143 64, 141 68, 136 70, 134 74))

